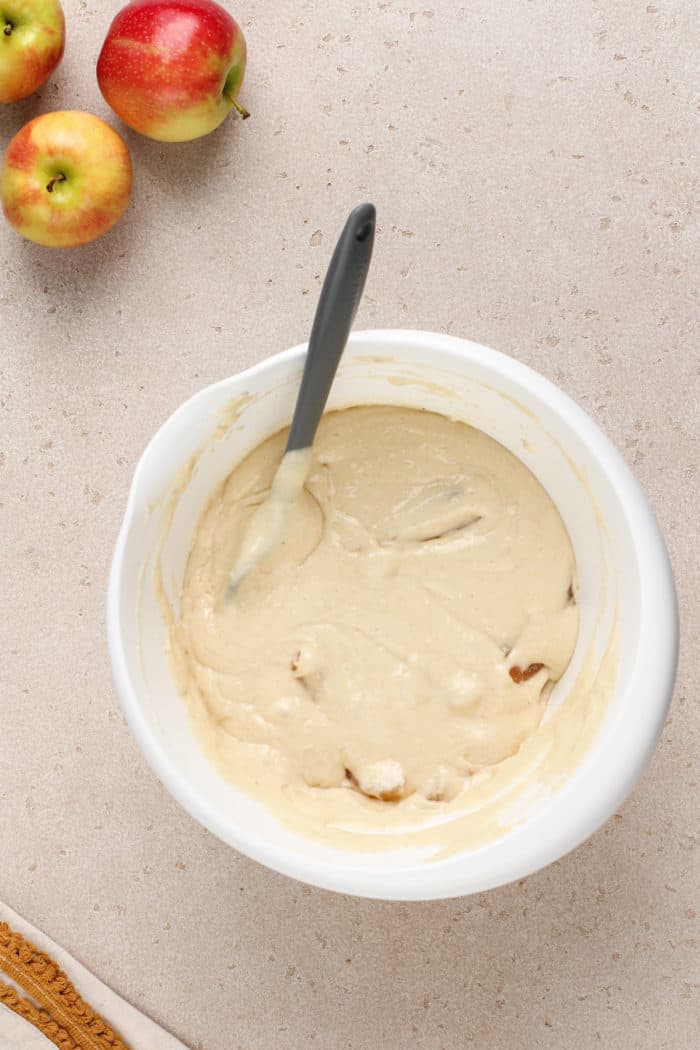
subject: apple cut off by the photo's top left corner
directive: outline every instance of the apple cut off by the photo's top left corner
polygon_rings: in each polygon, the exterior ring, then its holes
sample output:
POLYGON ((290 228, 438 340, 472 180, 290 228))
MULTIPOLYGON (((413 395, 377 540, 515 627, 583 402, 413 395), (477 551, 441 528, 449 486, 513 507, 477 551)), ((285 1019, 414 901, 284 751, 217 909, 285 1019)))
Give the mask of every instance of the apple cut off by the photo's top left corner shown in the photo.
POLYGON ((41 87, 64 45, 59 0, 0 0, 0 102, 17 102, 41 87))

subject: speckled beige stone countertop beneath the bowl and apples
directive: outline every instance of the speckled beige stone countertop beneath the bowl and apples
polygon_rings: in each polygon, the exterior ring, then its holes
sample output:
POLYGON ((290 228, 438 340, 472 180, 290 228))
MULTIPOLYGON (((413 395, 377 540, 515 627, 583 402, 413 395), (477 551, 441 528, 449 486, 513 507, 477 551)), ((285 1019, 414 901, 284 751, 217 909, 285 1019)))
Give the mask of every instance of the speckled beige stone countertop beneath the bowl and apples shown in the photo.
MULTIPOLYGON (((110 119, 119 0, 0 113, 110 119)), ((698 1034, 697 52, 688 0, 237 0, 253 112, 126 133, 133 203, 68 253, 0 230, 0 898, 198 1050, 684 1050, 698 1034), (359 327, 466 335, 558 382, 659 516, 684 648, 660 748, 572 855, 397 905, 238 856, 122 718, 105 583, 133 466, 206 383, 309 332, 348 208, 379 233, 359 327)), ((114 123, 116 123, 114 121, 114 123)), ((144 1048, 145 1050, 145 1048, 144 1048)))

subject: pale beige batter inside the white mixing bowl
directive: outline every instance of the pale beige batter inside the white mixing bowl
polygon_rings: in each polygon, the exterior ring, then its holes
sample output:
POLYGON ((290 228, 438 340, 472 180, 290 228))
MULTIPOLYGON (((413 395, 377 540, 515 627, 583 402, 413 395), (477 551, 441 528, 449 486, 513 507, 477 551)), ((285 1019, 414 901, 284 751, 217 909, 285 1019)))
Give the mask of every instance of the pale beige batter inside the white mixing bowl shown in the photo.
POLYGON ((214 492, 171 623, 208 750, 312 833, 416 823, 471 806, 479 785, 487 802, 485 780, 503 793, 532 762, 524 744, 576 642, 574 556, 554 504, 463 423, 333 413, 281 544, 227 601, 284 439, 214 492))

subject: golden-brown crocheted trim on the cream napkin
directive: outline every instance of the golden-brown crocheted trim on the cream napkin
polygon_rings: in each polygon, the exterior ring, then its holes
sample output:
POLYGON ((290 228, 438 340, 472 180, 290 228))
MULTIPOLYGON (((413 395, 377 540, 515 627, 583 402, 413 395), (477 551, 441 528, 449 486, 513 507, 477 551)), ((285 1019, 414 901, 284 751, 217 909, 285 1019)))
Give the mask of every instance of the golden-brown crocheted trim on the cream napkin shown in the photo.
POLYGON ((0 1003, 24 1017, 60 1050, 129 1050, 80 998, 54 960, 0 923, 0 971, 30 999, 0 981, 0 1003))

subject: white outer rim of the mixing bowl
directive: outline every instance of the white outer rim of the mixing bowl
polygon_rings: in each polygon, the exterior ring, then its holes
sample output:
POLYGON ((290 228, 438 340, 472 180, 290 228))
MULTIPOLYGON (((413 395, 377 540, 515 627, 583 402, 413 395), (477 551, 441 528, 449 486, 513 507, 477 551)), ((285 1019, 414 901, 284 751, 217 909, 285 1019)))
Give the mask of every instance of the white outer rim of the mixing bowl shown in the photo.
MULTIPOLYGON (((678 607, 665 544, 638 481, 610 439, 569 395, 521 361, 458 336, 411 329, 379 329, 353 332, 348 340, 353 351, 369 344, 373 353, 377 353, 378 344, 384 344, 387 352, 390 349, 396 351, 397 343, 417 350, 438 350, 461 360, 478 361, 481 365, 487 365, 491 372, 507 376, 527 394, 548 401, 557 415, 566 418, 567 425, 576 432, 578 439, 588 446, 608 475, 608 480, 617 494, 621 512, 633 525, 630 531, 634 537, 641 598, 637 660, 631 672, 625 695, 635 688, 639 691, 636 720, 633 726, 625 726, 623 729, 623 749, 616 747, 621 742, 619 733, 622 727, 616 724, 620 721, 620 712, 610 724, 601 727, 582 762, 548 804, 550 822, 547 836, 539 839, 534 835, 524 834, 526 828, 537 823, 535 816, 533 821, 509 832, 503 839, 476 850, 457 854, 446 861, 422 865, 411 863, 405 869, 385 870, 360 866, 343 868, 304 857, 301 852, 271 844, 236 826, 235 821, 220 813, 190 785, 151 731, 127 671, 120 615, 124 551, 136 512, 141 479, 164 435, 187 416, 199 400, 221 390, 240 387, 251 377, 273 370, 280 363, 301 360, 306 343, 292 346, 242 372, 203 387, 183 402, 155 432, 136 464, 111 561, 107 587, 107 642, 120 704, 139 747, 157 778, 200 824, 251 859, 320 888, 385 900, 433 900, 480 892, 524 878, 564 857, 612 816, 641 776, 656 748, 666 717, 678 662, 678 607), (586 781, 585 793, 578 791, 581 780, 586 781), (572 788, 574 792, 578 791, 578 796, 585 794, 585 798, 570 798, 567 819, 551 821, 552 813, 557 816, 557 806, 563 807, 566 796, 572 794, 572 788), (473 862, 482 849, 492 849, 499 842, 506 841, 517 845, 513 852, 514 859, 501 859, 490 870, 475 873, 474 878, 469 863, 465 864, 465 861, 471 859, 473 862)), ((564 811, 561 816, 565 816, 564 811)))

